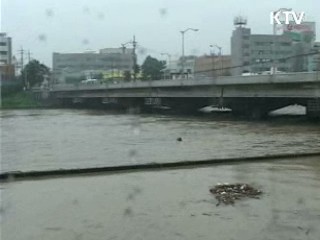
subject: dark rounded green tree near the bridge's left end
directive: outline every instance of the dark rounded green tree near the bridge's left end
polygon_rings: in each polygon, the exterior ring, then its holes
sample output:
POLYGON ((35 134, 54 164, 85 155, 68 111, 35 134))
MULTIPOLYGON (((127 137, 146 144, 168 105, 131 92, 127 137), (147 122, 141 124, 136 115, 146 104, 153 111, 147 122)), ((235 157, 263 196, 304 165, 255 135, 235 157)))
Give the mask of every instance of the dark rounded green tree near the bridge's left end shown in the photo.
POLYGON ((41 84, 45 75, 49 75, 50 69, 38 60, 30 61, 21 71, 21 80, 26 87, 41 84))

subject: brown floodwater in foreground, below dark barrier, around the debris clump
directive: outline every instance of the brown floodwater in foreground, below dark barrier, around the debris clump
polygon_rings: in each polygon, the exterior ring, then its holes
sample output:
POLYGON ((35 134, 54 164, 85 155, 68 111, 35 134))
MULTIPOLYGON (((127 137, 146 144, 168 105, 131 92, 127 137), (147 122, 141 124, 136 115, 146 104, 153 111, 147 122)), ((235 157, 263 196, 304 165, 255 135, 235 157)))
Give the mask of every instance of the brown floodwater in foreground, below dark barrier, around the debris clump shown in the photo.
POLYGON ((7 183, 1 239, 319 240, 319 163, 313 157, 7 183), (249 183, 263 194, 216 206, 209 189, 219 182, 249 183))

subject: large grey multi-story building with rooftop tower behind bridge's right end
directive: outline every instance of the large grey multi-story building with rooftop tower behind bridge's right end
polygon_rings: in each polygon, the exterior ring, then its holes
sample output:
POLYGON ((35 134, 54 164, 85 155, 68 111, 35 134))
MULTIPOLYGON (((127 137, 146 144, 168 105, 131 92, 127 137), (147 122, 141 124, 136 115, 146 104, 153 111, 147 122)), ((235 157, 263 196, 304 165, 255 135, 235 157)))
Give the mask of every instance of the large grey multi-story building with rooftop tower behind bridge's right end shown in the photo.
POLYGON ((231 37, 232 75, 277 70, 292 71, 293 42, 285 35, 251 34, 250 28, 237 27, 231 37))

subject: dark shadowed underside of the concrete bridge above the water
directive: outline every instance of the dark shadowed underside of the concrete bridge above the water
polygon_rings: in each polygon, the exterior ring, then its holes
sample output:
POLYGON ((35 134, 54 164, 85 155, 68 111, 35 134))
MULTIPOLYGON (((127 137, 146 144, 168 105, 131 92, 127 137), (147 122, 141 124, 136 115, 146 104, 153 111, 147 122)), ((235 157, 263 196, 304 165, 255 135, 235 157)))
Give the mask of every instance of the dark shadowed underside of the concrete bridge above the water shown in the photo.
POLYGON ((59 104, 68 107, 122 109, 134 112, 152 112, 159 109, 176 113, 196 113, 214 105, 226 107, 237 116, 264 118, 270 111, 299 104, 307 108, 307 115, 320 117, 320 99, 262 98, 262 97, 112 97, 112 98, 60 98, 59 104))

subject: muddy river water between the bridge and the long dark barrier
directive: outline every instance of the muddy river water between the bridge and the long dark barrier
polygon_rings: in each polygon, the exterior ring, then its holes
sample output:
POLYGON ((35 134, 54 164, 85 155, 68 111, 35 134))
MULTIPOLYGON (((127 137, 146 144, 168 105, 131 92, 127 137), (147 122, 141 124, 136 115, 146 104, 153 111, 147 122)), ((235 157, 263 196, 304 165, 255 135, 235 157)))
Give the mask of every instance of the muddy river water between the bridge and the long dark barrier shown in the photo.
POLYGON ((320 149, 319 125, 289 122, 93 110, 5 110, 1 111, 1 168, 84 168, 320 149))

